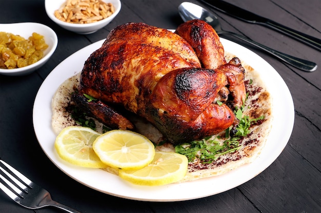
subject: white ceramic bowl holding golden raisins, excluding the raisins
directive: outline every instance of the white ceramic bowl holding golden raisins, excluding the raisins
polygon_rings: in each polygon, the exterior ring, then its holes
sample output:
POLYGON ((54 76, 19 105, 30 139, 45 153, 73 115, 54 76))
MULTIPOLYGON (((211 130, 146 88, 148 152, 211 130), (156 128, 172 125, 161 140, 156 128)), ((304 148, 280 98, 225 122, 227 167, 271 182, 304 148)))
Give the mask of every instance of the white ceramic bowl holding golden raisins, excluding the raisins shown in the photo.
POLYGON ((41 34, 44 36, 46 43, 49 45, 44 51, 44 57, 39 61, 30 64, 25 67, 15 68, 15 69, 1 69, 0 74, 6 76, 23 76, 32 73, 34 70, 38 69, 44 65, 48 59, 51 57, 53 52, 56 50, 58 44, 58 38, 56 33, 46 25, 34 22, 22 22, 22 23, 0 23, 0 30, 6 33, 12 33, 15 35, 20 35, 25 39, 28 39, 33 32, 41 34))

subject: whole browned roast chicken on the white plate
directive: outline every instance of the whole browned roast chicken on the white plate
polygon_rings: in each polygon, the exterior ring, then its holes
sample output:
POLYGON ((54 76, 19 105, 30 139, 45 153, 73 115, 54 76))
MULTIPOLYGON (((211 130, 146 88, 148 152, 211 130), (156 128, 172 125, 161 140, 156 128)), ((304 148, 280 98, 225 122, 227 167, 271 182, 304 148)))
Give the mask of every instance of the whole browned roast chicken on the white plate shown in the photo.
POLYGON ((229 128, 245 98, 240 60, 226 62, 218 35, 201 20, 174 33, 145 23, 116 27, 85 62, 73 97, 110 128, 134 130, 129 111, 174 144, 229 128))

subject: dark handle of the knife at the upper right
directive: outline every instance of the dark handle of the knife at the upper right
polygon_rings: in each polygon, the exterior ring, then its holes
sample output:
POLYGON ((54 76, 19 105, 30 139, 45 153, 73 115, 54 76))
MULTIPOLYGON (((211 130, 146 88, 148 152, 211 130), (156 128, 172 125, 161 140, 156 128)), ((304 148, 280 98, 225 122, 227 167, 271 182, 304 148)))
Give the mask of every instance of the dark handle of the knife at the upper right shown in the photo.
POLYGON ((286 34, 296 40, 299 40, 299 41, 311 46, 312 48, 315 48, 318 51, 321 51, 321 39, 318 39, 318 38, 312 37, 310 35, 304 34, 302 32, 293 30, 291 28, 283 26, 280 23, 277 23, 272 20, 267 20, 265 22, 260 22, 260 23, 266 27, 269 27, 273 30, 280 32, 280 33, 284 33, 284 34, 286 34))

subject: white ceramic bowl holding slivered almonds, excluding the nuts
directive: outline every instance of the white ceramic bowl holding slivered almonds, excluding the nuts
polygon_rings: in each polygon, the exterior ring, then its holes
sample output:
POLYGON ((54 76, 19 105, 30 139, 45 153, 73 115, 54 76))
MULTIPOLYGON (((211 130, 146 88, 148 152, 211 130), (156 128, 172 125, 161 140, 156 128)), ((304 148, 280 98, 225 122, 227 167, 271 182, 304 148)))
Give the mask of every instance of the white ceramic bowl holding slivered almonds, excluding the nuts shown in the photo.
POLYGON ((119 0, 103 0, 103 1, 106 3, 112 3, 115 8, 115 12, 111 16, 94 23, 84 23, 84 24, 67 23, 65 21, 62 21, 56 18, 54 15, 54 11, 61 8, 61 6, 66 2, 66 0, 45 0, 45 9, 49 18, 53 20, 55 23, 57 23, 57 25, 61 26, 62 28, 65 28, 66 30, 69 30, 78 34, 90 34, 108 25, 108 23, 112 19, 114 19, 114 17, 121 10, 121 1, 119 0))

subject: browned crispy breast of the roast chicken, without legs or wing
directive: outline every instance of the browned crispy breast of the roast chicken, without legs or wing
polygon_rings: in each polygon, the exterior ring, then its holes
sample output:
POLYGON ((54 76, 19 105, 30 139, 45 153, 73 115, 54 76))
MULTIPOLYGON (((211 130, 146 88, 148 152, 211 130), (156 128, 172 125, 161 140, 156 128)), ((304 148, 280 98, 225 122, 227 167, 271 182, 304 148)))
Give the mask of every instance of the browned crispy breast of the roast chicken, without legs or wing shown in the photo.
POLYGON ((200 67, 187 41, 165 29, 127 23, 86 61, 80 90, 138 113, 158 80, 181 67, 200 67))

